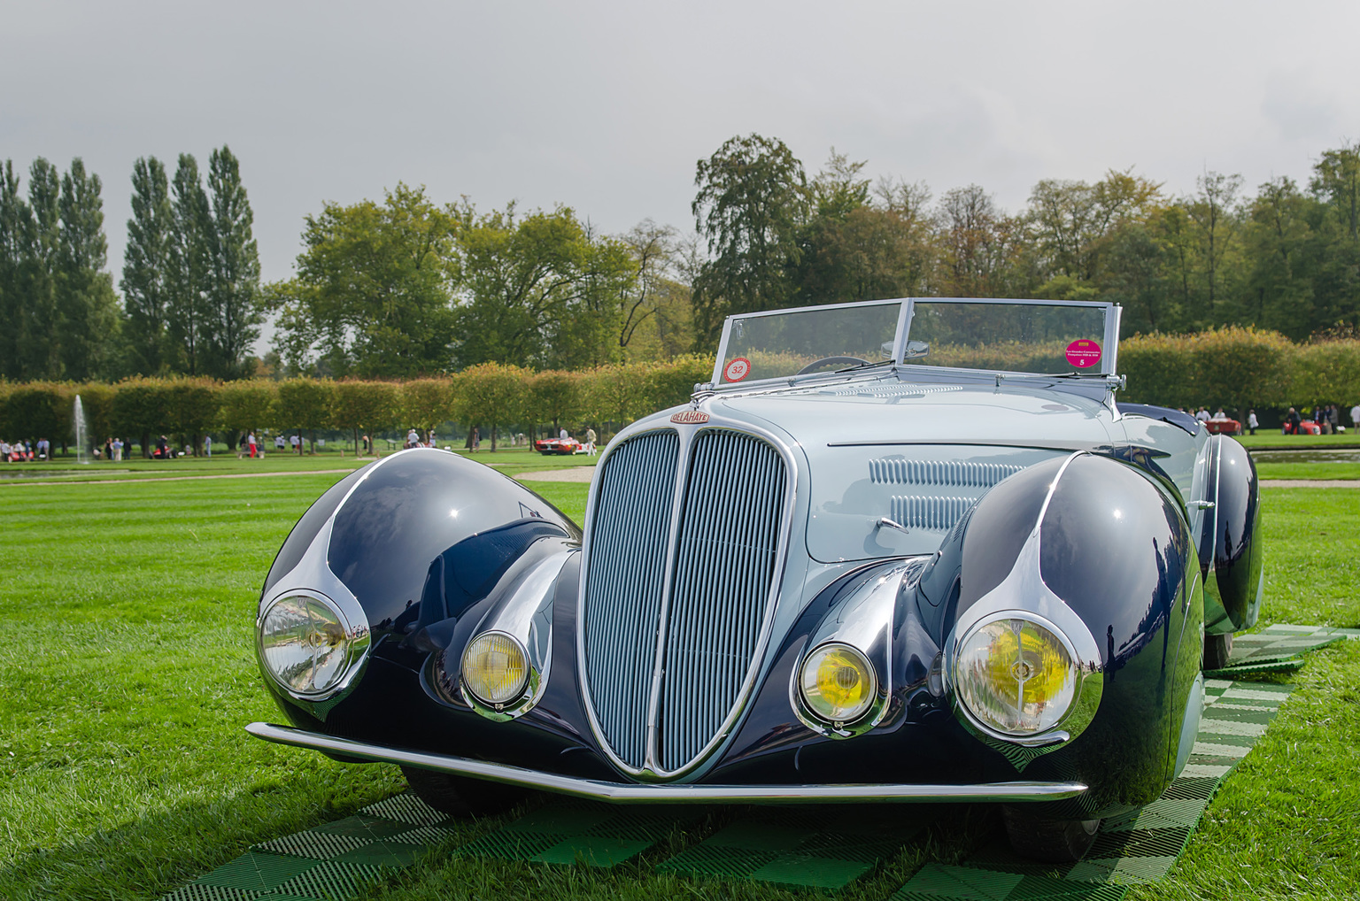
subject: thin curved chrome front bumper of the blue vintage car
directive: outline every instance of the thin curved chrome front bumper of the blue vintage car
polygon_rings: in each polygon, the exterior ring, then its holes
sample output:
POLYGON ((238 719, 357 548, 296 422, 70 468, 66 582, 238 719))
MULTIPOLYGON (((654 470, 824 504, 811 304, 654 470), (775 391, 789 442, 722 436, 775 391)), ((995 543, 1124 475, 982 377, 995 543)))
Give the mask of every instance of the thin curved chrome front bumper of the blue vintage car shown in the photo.
POLYGON ((318 732, 305 732, 288 726, 250 723, 246 731, 256 738, 279 745, 310 747, 358 760, 373 760, 403 766, 418 766, 437 772, 472 776, 509 785, 524 785, 577 798, 594 798, 615 803, 677 803, 677 805, 804 805, 812 802, 1025 802, 1062 800, 1076 798, 1087 787, 1083 783, 1010 781, 976 785, 698 785, 668 783, 649 785, 641 783, 607 783, 596 779, 558 776, 521 766, 490 764, 466 757, 446 757, 424 752, 403 750, 333 738, 318 732))

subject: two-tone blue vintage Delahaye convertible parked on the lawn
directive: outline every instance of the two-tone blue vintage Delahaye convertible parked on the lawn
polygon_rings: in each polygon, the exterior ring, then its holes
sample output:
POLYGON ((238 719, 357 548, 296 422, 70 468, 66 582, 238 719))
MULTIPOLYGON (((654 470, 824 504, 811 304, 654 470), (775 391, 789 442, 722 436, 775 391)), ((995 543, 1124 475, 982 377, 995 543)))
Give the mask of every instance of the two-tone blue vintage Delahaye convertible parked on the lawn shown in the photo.
POLYGON ((260 738, 446 810, 991 802, 1080 856, 1186 765, 1262 597, 1231 438, 1118 404, 1119 307, 732 317, 605 448, 585 527, 438 450, 317 500, 264 583, 260 738), (1208 637, 1206 637, 1208 636, 1208 637))

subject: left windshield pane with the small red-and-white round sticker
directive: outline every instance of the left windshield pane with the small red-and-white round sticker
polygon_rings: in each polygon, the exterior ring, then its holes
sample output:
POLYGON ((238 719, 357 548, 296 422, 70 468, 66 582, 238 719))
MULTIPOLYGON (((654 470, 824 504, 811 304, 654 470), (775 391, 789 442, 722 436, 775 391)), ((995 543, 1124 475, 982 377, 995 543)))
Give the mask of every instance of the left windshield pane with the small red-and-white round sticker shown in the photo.
POLYGON ((880 303, 736 317, 728 322, 718 383, 887 363, 900 311, 900 303, 880 303))

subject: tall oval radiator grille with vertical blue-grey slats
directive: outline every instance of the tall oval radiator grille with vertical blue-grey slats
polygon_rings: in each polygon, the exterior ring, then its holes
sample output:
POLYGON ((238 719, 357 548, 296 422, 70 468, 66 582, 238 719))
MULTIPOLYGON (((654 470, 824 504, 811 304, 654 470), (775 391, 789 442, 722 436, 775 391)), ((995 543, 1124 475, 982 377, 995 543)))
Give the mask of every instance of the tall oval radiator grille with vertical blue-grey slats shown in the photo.
POLYGON ((772 602, 787 500, 783 459, 759 438, 704 429, 684 459, 677 447, 673 432, 651 432, 611 453, 586 560, 588 703, 617 758, 657 772, 692 762, 741 701, 772 602), (685 476, 669 546, 677 470, 685 476), (658 635, 664 675, 649 709, 658 635))

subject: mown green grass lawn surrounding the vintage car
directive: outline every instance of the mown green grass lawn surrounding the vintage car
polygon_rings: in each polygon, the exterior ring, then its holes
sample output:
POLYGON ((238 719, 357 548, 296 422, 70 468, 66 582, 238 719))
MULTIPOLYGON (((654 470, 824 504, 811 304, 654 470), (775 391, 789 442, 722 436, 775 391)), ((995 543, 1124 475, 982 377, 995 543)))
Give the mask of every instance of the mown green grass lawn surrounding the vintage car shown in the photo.
MULTIPOLYGON (((477 459, 514 473, 596 458, 502 451, 477 459)), ((156 898, 256 841, 333 819, 401 785, 394 768, 336 764, 241 728, 277 719, 252 651, 260 582, 296 516, 341 477, 301 470, 337 462, 243 463, 295 466, 269 469, 298 472, 290 478, 0 484, 0 898, 156 898)), ((231 457, 165 466, 233 474, 238 463, 231 457)), ((585 484, 529 487, 579 522, 585 484)), ((1268 489, 1265 504, 1263 621, 1360 625, 1356 496, 1268 489)), ((1136 897, 1353 897, 1360 641, 1314 654, 1293 681, 1299 692, 1216 798, 1171 878, 1136 897)), ((471 862, 437 849, 370 896, 816 897, 651 871, 724 815, 611 875, 471 862)), ((981 807, 953 809, 925 844, 845 897, 885 898, 925 860, 964 853, 990 817, 981 807)), ((496 822, 466 829, 480 833, 496 822)))

